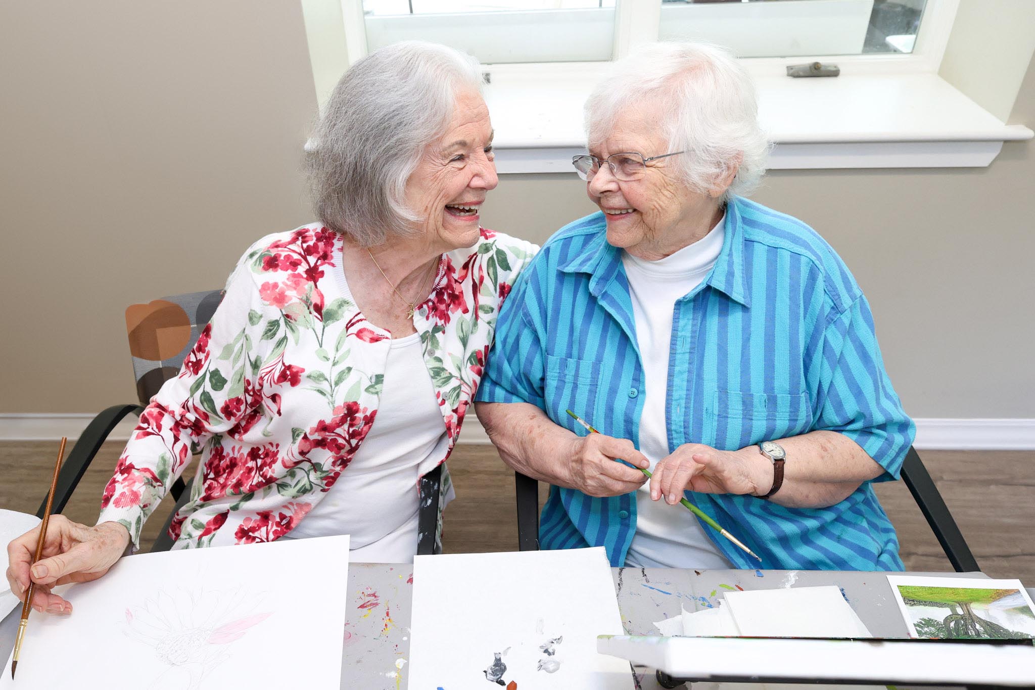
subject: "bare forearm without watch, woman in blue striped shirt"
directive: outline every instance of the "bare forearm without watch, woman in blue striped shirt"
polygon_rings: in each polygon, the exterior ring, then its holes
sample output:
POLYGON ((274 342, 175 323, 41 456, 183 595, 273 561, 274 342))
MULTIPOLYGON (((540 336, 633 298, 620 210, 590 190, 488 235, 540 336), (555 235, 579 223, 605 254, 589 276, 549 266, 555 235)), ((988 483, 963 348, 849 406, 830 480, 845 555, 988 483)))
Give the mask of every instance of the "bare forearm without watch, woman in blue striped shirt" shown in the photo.
POLYGON ((574 488, 563 449, 579 437, 527 402, 476 402, 474 411, 504 462, 533 479, 574 488))

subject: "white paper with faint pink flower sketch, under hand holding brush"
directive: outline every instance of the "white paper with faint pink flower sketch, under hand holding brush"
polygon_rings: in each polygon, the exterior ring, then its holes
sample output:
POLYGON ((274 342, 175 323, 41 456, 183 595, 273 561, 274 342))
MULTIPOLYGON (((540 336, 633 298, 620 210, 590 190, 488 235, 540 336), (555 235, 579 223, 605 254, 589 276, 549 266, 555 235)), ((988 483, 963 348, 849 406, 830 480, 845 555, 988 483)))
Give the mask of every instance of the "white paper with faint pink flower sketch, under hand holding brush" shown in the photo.
POLYGON ((348 567, 348 536, 124 558, 29 617, 0 688, 337 690, 348 567))

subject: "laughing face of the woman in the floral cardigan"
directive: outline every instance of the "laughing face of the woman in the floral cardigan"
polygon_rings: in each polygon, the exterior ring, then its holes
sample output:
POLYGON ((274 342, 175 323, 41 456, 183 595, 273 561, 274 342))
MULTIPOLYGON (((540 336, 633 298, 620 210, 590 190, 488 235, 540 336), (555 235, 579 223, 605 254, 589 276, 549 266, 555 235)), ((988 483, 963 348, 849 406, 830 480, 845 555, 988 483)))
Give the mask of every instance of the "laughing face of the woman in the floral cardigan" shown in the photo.
POLYGON ((424 150, 406 183, 407 205, 436 250, 478 241, 480 206, 498 182, 492 144, 485 101, 475 91, 461 92, 445 132, 424 150))

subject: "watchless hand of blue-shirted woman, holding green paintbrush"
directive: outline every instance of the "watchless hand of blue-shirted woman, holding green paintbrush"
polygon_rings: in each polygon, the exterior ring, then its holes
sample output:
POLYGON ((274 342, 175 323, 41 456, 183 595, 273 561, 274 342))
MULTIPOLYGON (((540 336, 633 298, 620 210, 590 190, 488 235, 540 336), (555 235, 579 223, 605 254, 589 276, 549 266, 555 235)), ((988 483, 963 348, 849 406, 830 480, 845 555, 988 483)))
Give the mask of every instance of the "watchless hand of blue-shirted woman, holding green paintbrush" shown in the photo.
POLYGON ((650 460, 635 449, 631 441, 602 433, 576 438, 566 456, 559 459, 570 463, 571 487, 594 497, 628 493, 647 481, 644 473, 619 462, 619 459, 645 470, 650 467, 650 460))

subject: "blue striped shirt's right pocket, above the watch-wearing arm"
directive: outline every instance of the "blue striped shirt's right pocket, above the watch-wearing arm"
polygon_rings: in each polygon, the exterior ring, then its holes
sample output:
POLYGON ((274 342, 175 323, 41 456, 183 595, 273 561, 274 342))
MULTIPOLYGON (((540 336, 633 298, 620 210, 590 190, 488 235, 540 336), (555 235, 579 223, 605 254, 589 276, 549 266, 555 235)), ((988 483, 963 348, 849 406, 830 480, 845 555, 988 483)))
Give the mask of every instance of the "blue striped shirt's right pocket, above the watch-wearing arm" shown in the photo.
POLYGON ((705 414, 705 443, 737 450, 762 441, 798 436, 811 426, 805 393, 744 393, 717 390, 705 414))

